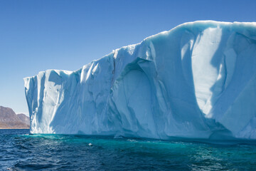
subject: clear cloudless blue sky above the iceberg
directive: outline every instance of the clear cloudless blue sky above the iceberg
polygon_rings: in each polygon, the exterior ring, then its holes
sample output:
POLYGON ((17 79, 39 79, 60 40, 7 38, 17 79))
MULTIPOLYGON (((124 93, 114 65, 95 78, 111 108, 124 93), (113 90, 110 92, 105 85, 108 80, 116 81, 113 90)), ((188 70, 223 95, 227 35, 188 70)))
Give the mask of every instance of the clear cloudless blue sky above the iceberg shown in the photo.
POLYGON ((24 77, 77 70, 196 20, 256 21, 256 1, 0 0, 0 105, 28 113, 24 77))

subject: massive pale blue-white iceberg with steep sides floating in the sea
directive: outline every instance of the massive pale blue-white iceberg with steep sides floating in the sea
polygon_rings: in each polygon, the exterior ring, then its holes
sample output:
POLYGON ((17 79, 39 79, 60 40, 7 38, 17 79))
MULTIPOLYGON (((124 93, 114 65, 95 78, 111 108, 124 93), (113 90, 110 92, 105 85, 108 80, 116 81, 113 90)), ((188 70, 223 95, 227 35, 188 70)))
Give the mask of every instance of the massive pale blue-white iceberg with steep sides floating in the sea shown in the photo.
POLYGON ((186 23, 24 81, 31 133, 256 139, 256 23, 186 23))

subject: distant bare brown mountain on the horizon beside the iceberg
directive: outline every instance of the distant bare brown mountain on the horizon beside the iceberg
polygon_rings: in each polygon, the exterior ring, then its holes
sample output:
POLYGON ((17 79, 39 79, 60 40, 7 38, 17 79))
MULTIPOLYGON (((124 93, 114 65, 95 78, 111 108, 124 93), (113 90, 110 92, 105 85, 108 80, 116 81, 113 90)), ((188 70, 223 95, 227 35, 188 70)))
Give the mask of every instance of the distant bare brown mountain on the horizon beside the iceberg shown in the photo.
POLYGON ((0 106, 0 129, 29 129, 29 118, 22 113, 16 115, 11 108, 0 106))

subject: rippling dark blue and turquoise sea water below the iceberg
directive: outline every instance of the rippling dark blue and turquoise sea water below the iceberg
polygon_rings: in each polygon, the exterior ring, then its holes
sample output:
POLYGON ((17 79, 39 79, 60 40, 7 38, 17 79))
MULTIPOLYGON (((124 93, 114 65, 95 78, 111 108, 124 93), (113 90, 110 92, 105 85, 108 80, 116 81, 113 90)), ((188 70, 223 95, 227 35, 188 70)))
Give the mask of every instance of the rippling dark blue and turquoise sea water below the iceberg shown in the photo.
POLYGON ((256 145, 0 130, 0 170, 256 170, 256 145))

